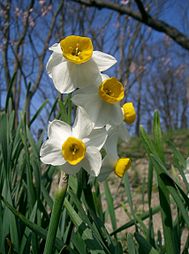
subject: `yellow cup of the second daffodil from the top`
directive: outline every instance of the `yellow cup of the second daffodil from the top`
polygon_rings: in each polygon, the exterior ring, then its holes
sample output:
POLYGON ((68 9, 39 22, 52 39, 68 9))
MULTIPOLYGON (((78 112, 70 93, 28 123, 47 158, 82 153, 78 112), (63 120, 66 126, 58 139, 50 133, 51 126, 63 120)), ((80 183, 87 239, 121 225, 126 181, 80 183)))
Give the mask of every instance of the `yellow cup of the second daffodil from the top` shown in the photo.
POLYGON ((98 92, 101 99, 110 104, 115 104, 124 98, 124 87, 116 78, 103 81, 98 92))

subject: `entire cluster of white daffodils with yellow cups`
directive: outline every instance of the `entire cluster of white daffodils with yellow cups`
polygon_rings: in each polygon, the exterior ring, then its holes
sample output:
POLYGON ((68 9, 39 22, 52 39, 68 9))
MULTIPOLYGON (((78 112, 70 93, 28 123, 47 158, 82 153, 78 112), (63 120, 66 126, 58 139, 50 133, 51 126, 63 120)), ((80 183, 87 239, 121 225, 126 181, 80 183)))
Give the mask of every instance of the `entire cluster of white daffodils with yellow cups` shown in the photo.
POLYGON ((77 106, 72 126, 54 120, 48 126, 48 139, 40 150, 45 164, 62 166, 75 175, 84 168, 91 177, 103 181, 113 171, 123 177, 131 165, 119 158, 118 139, 128 140, 126 124, 136 118, 131 102, 121 107, 124 87, 115 78, 102 74, 117 61, 108 54, 93 51, 90 38, 70 35, 50 47, 53 51, 47 72, 62 94, 73 93, 77 106), (102 158, 101 149, 106 155, 102 158))

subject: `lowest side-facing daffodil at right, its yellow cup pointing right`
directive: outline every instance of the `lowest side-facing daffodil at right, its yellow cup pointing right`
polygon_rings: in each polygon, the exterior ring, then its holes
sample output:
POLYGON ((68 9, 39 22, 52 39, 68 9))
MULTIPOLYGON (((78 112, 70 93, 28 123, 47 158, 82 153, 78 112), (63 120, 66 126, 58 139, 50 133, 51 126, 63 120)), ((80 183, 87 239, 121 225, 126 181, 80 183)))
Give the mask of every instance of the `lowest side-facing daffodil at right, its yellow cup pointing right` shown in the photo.
POLYGON ((100 182, 106 180, 112 172, 122 178, 130 166, 130 158, 119 158, 116 153, 107 154, 102 161, 102 167, 97 180, 100 182))

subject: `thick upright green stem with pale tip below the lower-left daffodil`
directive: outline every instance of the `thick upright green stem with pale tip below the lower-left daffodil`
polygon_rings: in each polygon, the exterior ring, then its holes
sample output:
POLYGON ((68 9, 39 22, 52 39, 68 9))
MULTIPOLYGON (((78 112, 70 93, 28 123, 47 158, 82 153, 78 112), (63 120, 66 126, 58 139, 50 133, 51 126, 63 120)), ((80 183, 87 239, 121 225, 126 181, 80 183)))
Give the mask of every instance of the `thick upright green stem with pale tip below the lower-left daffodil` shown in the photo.
POLYGON ((68 178, 65 174, 64 175, 61 174, 59 186, 55 192, 54 204, 51 213, 49 229, 47 232, 44 254, 53 253, 58 223, 60 220, 61 209, 66 195, 67 186, 68 186, 68 178))

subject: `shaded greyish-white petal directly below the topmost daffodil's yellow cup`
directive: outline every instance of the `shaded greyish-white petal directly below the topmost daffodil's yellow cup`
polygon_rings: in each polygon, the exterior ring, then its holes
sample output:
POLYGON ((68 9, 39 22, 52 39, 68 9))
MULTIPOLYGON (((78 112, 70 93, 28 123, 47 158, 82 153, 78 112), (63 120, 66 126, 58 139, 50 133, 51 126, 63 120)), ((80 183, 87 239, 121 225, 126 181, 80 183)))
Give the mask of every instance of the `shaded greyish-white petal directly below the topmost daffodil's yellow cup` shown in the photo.
POLYGON ((68 62, 68 71, 73 85, 77 88, 97 86, 101 83, 101 75, 96 63, 89 60, 83 64, 73 64, 68 62))

